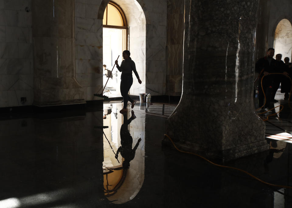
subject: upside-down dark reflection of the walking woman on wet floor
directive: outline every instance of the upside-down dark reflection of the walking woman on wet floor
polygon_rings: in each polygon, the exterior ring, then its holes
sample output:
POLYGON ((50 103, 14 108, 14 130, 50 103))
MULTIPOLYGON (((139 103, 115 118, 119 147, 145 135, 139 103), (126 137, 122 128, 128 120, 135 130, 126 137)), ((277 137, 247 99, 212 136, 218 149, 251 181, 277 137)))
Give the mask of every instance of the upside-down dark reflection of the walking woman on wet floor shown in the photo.
POLYGON ((130 135, 130 131, 128 130, 128 125, 133 121, 136 116, 134 115, 134 111, 132 110, 132 116, 127 120, 127 114, 123 114, 124 123, 121 126, 120 136, 121 136, 121 146, 118 148, 116 152, 116 158, 118 158, 119 152, 121 153, 122 157, 125 159, 123 162, 123 168, 130 167, 130 161, 134 159, 136 149, 141 142, 141 138, 138 139, 137 144, 132 149, 133 145, 133 138, 130 135))

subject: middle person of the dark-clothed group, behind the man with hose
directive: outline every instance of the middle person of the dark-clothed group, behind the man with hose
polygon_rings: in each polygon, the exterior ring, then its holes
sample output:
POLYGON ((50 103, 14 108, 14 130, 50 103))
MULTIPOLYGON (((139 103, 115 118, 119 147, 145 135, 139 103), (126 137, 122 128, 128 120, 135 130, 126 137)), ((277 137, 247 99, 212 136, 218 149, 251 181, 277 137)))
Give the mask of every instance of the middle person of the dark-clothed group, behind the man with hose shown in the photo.
MULTIPOLYGON (((282 59, 282 54, 280 53, 277 54, 276 68, 275 68, 274 73, 284 73, 286 66, 285 66, 285 63, 281 59, 282 59)), ((272 102, 278 102, 277 100, 275 100, 275 95, 278 88, 280 87, 280 83, 282 79, 283 79, 282 74, 273 74, 273 90, 272 90, 272 97, 271 97, 272 102)))

